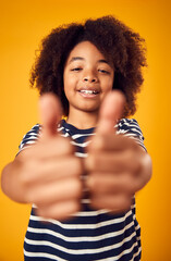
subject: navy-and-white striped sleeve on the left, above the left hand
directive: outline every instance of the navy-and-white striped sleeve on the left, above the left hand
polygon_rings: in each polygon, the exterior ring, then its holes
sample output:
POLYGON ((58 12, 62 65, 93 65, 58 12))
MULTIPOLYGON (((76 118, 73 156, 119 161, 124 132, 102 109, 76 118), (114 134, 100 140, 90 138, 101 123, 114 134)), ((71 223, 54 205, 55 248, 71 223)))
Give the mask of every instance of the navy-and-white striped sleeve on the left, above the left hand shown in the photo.
POLYGON ((32 129, 26 135, 24 135, 24 137, 19 146, 19 153, 23 149, 35 144, 38 140, 38 138, 40 136, 40 129, 41 129, 41 126, 39 124, 36 124, 35 126, 32 127, 32 129))

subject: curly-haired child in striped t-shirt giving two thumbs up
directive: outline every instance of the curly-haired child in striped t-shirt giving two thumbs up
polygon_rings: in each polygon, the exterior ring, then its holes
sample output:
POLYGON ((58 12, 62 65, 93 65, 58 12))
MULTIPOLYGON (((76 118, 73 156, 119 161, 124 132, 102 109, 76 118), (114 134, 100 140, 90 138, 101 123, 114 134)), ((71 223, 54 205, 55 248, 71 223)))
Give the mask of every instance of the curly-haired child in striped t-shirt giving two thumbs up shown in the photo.
POLYGON ((123 116, 135 112, 143 83, 142 41, 111 16, 42 41, 32 74, 42 125, 2 173, 3 191, 33 203, 25 260, 141 260, 134 194, 151 162, 136 121, 123 116))

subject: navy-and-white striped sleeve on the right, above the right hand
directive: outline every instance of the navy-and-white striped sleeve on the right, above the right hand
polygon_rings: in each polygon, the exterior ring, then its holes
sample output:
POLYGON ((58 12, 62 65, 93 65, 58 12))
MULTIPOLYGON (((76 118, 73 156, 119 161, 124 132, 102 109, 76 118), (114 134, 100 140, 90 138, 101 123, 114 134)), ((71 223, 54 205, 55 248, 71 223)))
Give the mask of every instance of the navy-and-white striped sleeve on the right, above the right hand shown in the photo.
POLYGON ((117 134, 123 134, 130 138, 135 139, 136 142, 146 150, 143 133, 135 119, 122 119, 119 121, 115 127, 118 128, 117 134))

